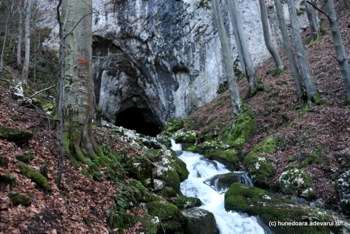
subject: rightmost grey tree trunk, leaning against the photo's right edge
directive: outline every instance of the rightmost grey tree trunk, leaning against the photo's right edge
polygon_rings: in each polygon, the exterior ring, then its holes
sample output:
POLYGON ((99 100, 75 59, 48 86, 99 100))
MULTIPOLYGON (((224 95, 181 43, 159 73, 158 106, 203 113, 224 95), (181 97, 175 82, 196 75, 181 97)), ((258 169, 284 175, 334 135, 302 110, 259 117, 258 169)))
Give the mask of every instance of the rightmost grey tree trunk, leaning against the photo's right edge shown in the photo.
POLYGON ((345 83, 346 102, 350 103, 350 67, 346 58, 346 52, 342 43, 341 34, 336 20, 336 13, 333 0, 325 0, 325 7, 328 13, 330 30, 332 32, 334 48, 336 52, 336 60, 338 61, 342 79, 345 83))

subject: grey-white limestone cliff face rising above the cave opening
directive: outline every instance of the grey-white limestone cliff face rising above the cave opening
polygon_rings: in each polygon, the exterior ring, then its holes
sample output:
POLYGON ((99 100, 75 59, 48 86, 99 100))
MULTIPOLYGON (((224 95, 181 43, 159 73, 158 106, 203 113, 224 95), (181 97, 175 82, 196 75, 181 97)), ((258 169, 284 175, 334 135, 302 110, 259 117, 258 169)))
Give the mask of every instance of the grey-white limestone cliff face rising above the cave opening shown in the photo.
MULTIPOLYGON (((114 122, 118 113, 137 107, 147 121, 162 126, 170 117, 184 117, 217 96, 218 85, 225 81, 221 46, 211 10, 199 8, 198 2, 94 1, 93 8, 100 13, 92 22, 94 90, 106 120, 114 122)), ((249 51, 258 65, 269 57, 258 0, 240 0, 239 6, 249 51)), ((280 45, 273 7, 268 9, 273 13, 269 16, 273 40, 280 45)), ((223 12, 233 48, 233 30, 227 11, 223 12)), ((304 14, 300 19, 305 26, 304 14)), ((232 51, 235 59, 237 53, 232 51)))

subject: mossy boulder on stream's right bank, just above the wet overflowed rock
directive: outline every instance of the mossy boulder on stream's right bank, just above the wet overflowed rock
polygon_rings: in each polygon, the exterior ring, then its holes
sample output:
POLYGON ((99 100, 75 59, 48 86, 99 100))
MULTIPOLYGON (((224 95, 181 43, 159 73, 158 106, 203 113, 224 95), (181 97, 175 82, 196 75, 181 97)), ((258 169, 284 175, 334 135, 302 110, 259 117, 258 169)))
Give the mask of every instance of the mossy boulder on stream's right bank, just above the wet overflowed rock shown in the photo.
POLYGON ((238 156, 240 150, 228 149, 225 151, 211 150, 204 154, 204 158, 216 160, 226 166, 228 170, 237 171, 240 168, 238 156))

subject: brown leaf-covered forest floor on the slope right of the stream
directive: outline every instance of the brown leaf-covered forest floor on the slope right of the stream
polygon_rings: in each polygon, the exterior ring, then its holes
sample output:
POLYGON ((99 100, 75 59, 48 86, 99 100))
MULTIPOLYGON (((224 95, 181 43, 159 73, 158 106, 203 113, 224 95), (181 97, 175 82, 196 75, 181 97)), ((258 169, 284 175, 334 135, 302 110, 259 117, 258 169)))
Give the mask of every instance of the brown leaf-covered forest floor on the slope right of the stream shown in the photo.
MULTIPOLYGON (((349 57, 350 11, 345 10, 343 1, 337 1, 335 4, 340 33, 349 57)), ((321 160, 302 170, 312 177, 317 198, 322 198, 335 209, 339 197, 334 191, 334 179, 350 167, 350 105, 344 105, 344 82, 338 63, 331 56, 336 54, 328 20, 322 14, 319 14, 319 18, 327 35, 320 37, 313 45, 304 45, 304 50, 311 76, 324 104, 300 106, 289 66, 286 66, 281 75, 273 77, 273 72, 266 72, 274 69, 272 58, 268 59, 256 69, 256 75, 266 85, 266 89, 244 102, 256 114, 258 129, 245 143, 243 153, 247 154, 257 143, 271 136, 283 135, 286 141, 297 141, 294 147, 284 151, 278 150, 269 157, 276 168, 276 174, 270 182, 275 182, 283 172, 289 157, 294 156, 296 162, 301 163, 309 153, 318 151, 321 160), (287 118, 283 118, 282 115, 287 118)), ((309 36, 307 28, 302 33, 303 42, 306 42, 309 36)), ((283 64, 287 65, 284 49, 279 51, 279 55, 283 64)), ((248 84, 242 79, 238 86, 242 97, 247 92, 248 84)), ((194 123, 191 127, 199 132, 205 127, 222 122, 224 127, 218 135, 222 134, 232 122, 228 91, 194 111, 186 119, 187 122, 194 123), (216 118, 206 125, 205 122, 214 115, 216 118)))

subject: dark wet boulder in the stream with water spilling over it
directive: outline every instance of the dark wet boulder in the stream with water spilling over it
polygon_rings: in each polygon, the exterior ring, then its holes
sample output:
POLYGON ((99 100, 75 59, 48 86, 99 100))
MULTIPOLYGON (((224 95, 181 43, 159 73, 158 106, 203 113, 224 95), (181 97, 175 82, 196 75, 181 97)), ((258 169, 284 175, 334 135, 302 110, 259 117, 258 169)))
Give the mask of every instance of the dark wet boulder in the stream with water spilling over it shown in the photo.
POLYGON ((213 177, 204 180, 204 183, 215 189, 216 191, 224 191, 229 188, 232 183, 246 183, 244 175, 246 172, 230 172, 225 174, 214 175, 213 177))

